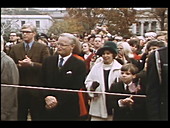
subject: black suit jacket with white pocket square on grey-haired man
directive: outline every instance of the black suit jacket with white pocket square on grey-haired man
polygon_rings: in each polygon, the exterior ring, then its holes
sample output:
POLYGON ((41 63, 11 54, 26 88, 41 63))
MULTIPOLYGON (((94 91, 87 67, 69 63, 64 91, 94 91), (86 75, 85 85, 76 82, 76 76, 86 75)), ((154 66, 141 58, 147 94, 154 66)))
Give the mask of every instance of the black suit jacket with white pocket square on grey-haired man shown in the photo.
MULTIPOLYGON (((58 68, 58 56, 45 59, 43 66, 43 84, 45 87, 79 90, 84 88, 86 66, 82 60, 71 56, 61 69, 58 68)), ((47 120, 74 120, 79 117, 79 98, 77 93, 45 91, 58 100, 58 106, 46 113, 47 120)))

